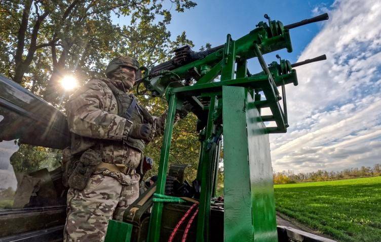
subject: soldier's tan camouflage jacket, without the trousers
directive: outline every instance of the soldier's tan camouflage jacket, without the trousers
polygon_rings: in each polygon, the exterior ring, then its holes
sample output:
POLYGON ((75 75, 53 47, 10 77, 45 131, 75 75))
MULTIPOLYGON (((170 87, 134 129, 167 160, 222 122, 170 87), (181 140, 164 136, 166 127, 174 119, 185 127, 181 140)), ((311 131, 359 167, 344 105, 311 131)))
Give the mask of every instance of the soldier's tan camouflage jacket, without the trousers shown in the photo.
MULTIPOLYGON (((122 141, 131 127, 130 122, 118 116, 117 100, 104 81, 123 88, 118 80, 92 79, 74 93, 67 103, 67 121, 72 132, 71 154, 92 147, 100 150, 103 162, 136 168, 140 162, 137 161, 141 157, 140 152, 122 141)), ((155 136, 163 134, 166 116, 164 112, 159 117, 153 117, 155 136)))

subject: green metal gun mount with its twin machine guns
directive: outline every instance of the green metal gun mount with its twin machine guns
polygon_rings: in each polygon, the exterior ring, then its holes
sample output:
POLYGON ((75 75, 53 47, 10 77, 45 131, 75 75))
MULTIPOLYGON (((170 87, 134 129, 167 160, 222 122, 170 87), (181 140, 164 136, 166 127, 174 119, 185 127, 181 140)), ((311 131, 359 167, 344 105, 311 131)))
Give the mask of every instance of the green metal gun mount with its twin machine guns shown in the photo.
MULTIPOLYGON (((262 55, 281 49, 292 52, 289 30, 326 20, 328 15, 285 26, 280 21, 271 20, 268 15, 265 18, 268 23, 258 23, 255 29, 237 40, 227 34, 221 48, 217 46, 207 54, 202 53, 205 55, 202 58, 199 58, 200 55, 195 55, 196 59, 189 58, 186 54, 189 49, 185 47, 180 48, 180 56, 175 57, 175 62, 167 62, 151 70, 140 68, 144 76, 137 86, 138 92, 143 94, 149 91, 153 96, 165 96, 168 101, 155 191, 157 195, 165 195, 176 110, 188 102, 198 117, 201 148, 196 180, 201 184, 201 191, 197 229, 194 232, 197 242, 214 241, 211 233, 211 200, 215 196, 222 134, 223 241, 264 242, 278 241, 279 238, 269 133, 287 131, 284 86, 298 84, 293 67, 325 59, 325 56, 295 64, 280 60, 279 63, 267 65, 262 55), (258 58, 263 71, 252 75, 247 69, 247 60, 254 57, 258 58), (145 91, 140 90, 141 84, 144 84, 145 91), (278 86, 282 86, 282 95, 278 86), (260 93, 264 94, 264 99, 260 93), (279 104, 282 99, 283 110, 279 104), (272 115, 261 116, 262 108, 270 108, 272 115), (276 127, 266 127, 264 122, 267 121, 275 121, 276 127)), ((165 216, 167 209, 166 203, 153 202, 148 235, 146 240, 143 238, 141 241, 168 240, 163 232, 168 230, 163 219, 168 218, 165 216)), ((112 241, 112 234, 108 233, 107 238, 112 241)))

